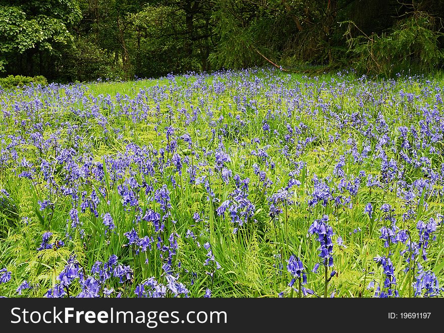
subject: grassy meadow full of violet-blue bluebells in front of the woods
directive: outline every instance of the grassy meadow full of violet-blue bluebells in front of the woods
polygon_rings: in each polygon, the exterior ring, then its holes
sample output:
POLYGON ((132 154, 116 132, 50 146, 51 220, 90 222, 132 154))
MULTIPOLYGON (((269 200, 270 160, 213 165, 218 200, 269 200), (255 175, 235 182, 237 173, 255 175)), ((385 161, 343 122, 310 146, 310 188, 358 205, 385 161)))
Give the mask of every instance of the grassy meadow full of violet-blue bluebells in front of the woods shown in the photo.
POLYGON ((0 296, 441 296, 443 82, 0 90, 0 296))

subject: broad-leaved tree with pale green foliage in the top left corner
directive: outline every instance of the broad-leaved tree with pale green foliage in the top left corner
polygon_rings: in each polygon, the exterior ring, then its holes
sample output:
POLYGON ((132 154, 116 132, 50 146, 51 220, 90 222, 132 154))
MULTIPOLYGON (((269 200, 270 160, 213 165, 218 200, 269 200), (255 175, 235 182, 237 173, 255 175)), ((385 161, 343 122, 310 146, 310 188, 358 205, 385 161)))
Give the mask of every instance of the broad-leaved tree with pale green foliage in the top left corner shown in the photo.
POLYGON ((70 29, 81 18, 73 0, 0 0, 0 71, 42 74, 44 56, 57 56, 72 41, 70 29))

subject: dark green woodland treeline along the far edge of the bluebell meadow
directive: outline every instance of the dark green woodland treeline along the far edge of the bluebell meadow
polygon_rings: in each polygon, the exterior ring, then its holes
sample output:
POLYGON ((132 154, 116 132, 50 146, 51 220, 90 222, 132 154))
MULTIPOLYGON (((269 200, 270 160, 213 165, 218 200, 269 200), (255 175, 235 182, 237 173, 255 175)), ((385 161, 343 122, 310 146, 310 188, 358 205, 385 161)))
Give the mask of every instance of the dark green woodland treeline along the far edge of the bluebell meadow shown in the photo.
POLYGON ((158 77, 273 64, 444 65, 443 0, 0 0, 0 75, 158 77))

